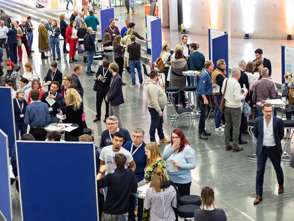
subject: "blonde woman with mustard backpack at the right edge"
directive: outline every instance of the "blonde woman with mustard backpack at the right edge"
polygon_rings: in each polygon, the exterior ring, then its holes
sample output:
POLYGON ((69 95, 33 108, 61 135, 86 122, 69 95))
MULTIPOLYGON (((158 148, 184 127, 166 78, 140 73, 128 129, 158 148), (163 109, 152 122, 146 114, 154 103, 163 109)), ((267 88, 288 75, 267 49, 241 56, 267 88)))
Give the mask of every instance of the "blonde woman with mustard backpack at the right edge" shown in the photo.
MULTIPOLYGON (((286 101, 289 102, 289 92, 290 92, 290 102, 293 101, 292 93, 294 92, 294 81, 292 79, 292 72, 286 71, 285 75, 285 83, 282 84, 282 95, 285 96, 286 101), (290 91, 291 90, 291 91, 290 91)), ((294 96, 294 94, 293 94, 294 96)), ((286 114, 286 119, 291 120, 292 114, 294 115, 294 103, 288 103, 285 107, 285 114, 286 114)), ((284 138, 287 138, 289 135, 289 130, 287 129, 287 133, 285 134, 284 138)))

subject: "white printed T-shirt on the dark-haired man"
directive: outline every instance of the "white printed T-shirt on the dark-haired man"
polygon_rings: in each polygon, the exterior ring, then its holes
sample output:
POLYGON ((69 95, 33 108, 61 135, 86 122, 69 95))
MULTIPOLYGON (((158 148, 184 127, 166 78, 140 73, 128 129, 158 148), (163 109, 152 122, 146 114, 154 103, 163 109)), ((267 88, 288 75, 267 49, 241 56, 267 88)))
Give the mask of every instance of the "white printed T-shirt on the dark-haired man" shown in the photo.
MULTIPOLYGON (((105 175, 108 173, 113 173, 116 169, 116 166, 114 165, 114 156, 117 153, 124 154, 127 157, 127 163, 130 163, 133 160, 132 154, 123 147, 121 147, 118 152, 113 152, 112 145, 103 147, 99 159, 103 160, 105 164, 109 165, 109 169, 105 171, 105 175)), ((127 169, 128 165, 125 165, 125 168, 127 169)))

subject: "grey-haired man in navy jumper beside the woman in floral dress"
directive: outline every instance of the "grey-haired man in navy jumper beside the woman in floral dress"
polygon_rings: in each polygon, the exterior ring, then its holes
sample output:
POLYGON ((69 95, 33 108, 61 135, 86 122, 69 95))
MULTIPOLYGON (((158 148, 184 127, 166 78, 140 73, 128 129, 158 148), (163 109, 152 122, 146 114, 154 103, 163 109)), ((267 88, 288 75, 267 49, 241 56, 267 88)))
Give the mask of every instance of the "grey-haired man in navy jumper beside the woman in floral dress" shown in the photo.
MULTIPOLYGON (((124 147, 126 150, 128 150, 136 163, 136 170, 135 175, 138 182, 142 181, 144 179, 144 169, 147 164, 147 156, 145 154, 145 146, 144 143, 144 130, 140 127, 137 127, 133 131, 132 135, 133 141, 128 141, 125 143, 124 147)), ((130 166, 129 166, 130 168, 130 166)), ((130 200, 130 205, 128 208, 128 218, 130 221, 134 221, 135 217, 138 217, 138 221, 143 220, 143 199, 133 199, 130 200)))

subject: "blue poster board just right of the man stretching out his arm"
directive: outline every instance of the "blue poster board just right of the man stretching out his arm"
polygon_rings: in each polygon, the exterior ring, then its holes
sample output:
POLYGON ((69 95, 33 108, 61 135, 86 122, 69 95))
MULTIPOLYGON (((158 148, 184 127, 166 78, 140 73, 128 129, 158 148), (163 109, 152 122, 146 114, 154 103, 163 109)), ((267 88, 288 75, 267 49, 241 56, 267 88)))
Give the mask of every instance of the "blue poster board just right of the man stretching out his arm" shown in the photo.
POLYGON ((151 21, 151 60, 154 63, 162 50, 161 18, 151 21))

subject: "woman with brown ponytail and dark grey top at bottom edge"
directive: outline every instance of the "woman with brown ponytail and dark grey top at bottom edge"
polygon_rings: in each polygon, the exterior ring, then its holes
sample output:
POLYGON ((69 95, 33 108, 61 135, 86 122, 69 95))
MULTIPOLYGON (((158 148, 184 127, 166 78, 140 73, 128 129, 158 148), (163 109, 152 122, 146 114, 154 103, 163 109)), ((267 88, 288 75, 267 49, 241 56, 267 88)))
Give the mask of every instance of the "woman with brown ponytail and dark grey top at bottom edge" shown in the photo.
POLYGON ((226 221, 227 216, 223 209, 218 209, 214 203, 214 192, 210 187, 204 187, 201 191, 202 209, 194 212, 194 221, 226 221))

